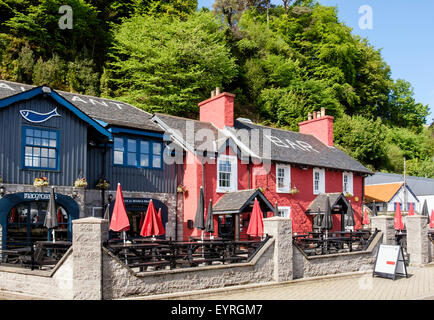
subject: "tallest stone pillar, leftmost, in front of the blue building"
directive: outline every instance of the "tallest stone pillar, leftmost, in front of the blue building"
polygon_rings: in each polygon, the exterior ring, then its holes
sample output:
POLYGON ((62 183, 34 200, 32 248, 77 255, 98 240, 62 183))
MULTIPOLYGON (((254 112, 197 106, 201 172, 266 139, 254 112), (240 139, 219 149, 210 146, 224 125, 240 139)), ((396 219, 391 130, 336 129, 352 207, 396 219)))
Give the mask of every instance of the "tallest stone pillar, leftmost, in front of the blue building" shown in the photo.
POLYGON ((83 218, 73 224, 73 299, 102 300, 103 251, 108 220, 83 218))

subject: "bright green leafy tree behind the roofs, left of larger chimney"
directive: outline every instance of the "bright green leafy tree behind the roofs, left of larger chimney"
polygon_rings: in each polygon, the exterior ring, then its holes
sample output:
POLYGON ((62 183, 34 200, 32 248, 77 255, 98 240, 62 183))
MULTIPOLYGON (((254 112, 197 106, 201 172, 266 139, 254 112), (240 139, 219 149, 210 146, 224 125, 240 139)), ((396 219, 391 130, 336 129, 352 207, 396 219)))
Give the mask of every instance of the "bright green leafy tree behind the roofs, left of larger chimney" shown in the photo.
POLYGON ((196 115, 197 103, 236 76, 234 59, 212 13, 187 21, 134 16, 114 33, 106 94, 148 111, 196 115))

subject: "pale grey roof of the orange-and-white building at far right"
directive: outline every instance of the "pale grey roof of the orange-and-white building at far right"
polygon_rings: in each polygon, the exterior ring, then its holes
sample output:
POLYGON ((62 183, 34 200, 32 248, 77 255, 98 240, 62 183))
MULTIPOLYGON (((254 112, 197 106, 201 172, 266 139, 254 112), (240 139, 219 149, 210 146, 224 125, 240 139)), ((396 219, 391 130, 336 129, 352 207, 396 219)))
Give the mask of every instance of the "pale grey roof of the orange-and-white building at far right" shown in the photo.
MULTIPOLYGON (((365 185, 403 181, 404 177, 401 174, 377 172, 366 178, 365 185)), ((416 196, 434 195, 434 179, 406 176, 406 182, 416 196)))

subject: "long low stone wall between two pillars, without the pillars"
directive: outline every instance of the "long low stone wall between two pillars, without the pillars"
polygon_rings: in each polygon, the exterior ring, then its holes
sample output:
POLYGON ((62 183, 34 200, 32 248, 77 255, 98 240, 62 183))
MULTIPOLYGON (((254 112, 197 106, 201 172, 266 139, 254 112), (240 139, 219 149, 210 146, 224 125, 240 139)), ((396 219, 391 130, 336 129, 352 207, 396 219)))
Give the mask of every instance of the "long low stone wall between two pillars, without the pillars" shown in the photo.
POLYGON ((204 266, 195 268, 143 272, 135 274, 116 257, 104 250, 104 299, 147 296, 208 288, 221 288, 247 283, 273 281, 273 244, 258 253, 250 263, 204 266))

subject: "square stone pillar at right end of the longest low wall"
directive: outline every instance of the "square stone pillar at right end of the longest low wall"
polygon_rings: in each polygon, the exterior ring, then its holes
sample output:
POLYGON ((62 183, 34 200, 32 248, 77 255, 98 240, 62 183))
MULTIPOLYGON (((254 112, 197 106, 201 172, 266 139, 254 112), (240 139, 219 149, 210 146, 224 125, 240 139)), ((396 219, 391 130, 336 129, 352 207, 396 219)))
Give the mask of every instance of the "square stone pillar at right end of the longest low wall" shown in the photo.
POLYGON ((292 220, 282 217, 264 219, 264 234, 274 239, 274 280, 292 280, 292 220))

